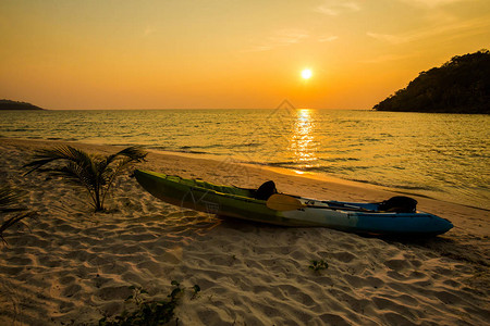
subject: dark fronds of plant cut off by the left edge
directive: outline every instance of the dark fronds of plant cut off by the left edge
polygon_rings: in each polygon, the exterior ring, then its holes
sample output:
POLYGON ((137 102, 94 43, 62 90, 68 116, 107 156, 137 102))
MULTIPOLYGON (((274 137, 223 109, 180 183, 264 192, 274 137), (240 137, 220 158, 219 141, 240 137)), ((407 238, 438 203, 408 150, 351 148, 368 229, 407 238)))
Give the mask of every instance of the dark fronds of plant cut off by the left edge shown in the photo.
POLYGON ((4 230, 20 223, 24 218, 36 215, 35 212, 27 212, 25 208, 19 204, 20 199, 24 196, 25 192, 11 189, 8 186, 0 187, 0 213, 2 217, 0 225, 0 239, 4 244, 8 244, 3 237, 4 230))

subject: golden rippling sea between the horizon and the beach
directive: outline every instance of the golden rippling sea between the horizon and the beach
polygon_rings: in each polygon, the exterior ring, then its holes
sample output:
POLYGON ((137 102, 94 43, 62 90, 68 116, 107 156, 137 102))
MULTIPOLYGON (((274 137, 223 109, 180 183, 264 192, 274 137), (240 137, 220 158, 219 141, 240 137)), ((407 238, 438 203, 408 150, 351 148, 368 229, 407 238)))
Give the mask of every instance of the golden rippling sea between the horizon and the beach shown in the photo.
POLYGON ((0 117, 1 137, 144 145, 489 206, 488 115, 278 109, 0 111, 0 117))

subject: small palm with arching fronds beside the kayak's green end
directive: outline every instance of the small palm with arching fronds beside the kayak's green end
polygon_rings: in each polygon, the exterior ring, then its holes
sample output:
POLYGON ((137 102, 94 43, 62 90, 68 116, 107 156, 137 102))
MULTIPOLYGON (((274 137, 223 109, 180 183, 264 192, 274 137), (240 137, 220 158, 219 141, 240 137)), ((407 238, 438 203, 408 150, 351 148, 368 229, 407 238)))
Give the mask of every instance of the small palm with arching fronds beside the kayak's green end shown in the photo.
POLYGON ((73 184, 84 187, 91 198, 95 211, 99 212, 105 210, 103 201, 114 179, 131 164, 144 161, 146 155, 147 153, 137 146, 107 156, 91 155, 71 146, 62 146, 38 151, 34 155, 34 161, 24 165, 29 168, 24 175, 48 163, 62 161, 63 165, 39 171, 61 175, 73 184))

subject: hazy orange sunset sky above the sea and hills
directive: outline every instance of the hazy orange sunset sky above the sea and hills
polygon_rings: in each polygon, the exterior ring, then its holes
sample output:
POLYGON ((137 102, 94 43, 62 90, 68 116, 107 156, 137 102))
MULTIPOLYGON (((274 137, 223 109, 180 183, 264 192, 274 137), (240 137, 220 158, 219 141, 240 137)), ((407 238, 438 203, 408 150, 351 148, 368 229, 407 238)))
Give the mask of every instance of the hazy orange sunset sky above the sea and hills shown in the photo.
POLYGON ((490 1, 0 0, 0 99, 45 109, 364 110, 489 49, 490 1))

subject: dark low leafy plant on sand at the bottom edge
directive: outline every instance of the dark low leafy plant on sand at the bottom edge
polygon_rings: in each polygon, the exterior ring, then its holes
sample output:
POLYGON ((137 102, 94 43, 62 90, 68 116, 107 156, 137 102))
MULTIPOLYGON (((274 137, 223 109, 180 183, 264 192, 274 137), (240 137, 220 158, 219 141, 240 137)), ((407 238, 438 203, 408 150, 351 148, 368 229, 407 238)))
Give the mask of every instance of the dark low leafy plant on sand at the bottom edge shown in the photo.
MULTIPOLYGON (((175 316, 175 308, 179 304, 180 298, 184 293, 184 289, 181 288, 181 284, 176 280, 172 280, 172 291, 167 296, 166 300, 149 300, 147 299, 148 292, 142 287, 131 286, 133 290, 126 302, 133 303, 136 308, 128 312, 123 311, 119 316, 108 319, 103 317, 99 321, 99 326, 125 326, 125 325, 164 325, 169 323, 175 316)), ((198 285, 193 287, 194 299, 200 291, 198 285)))

